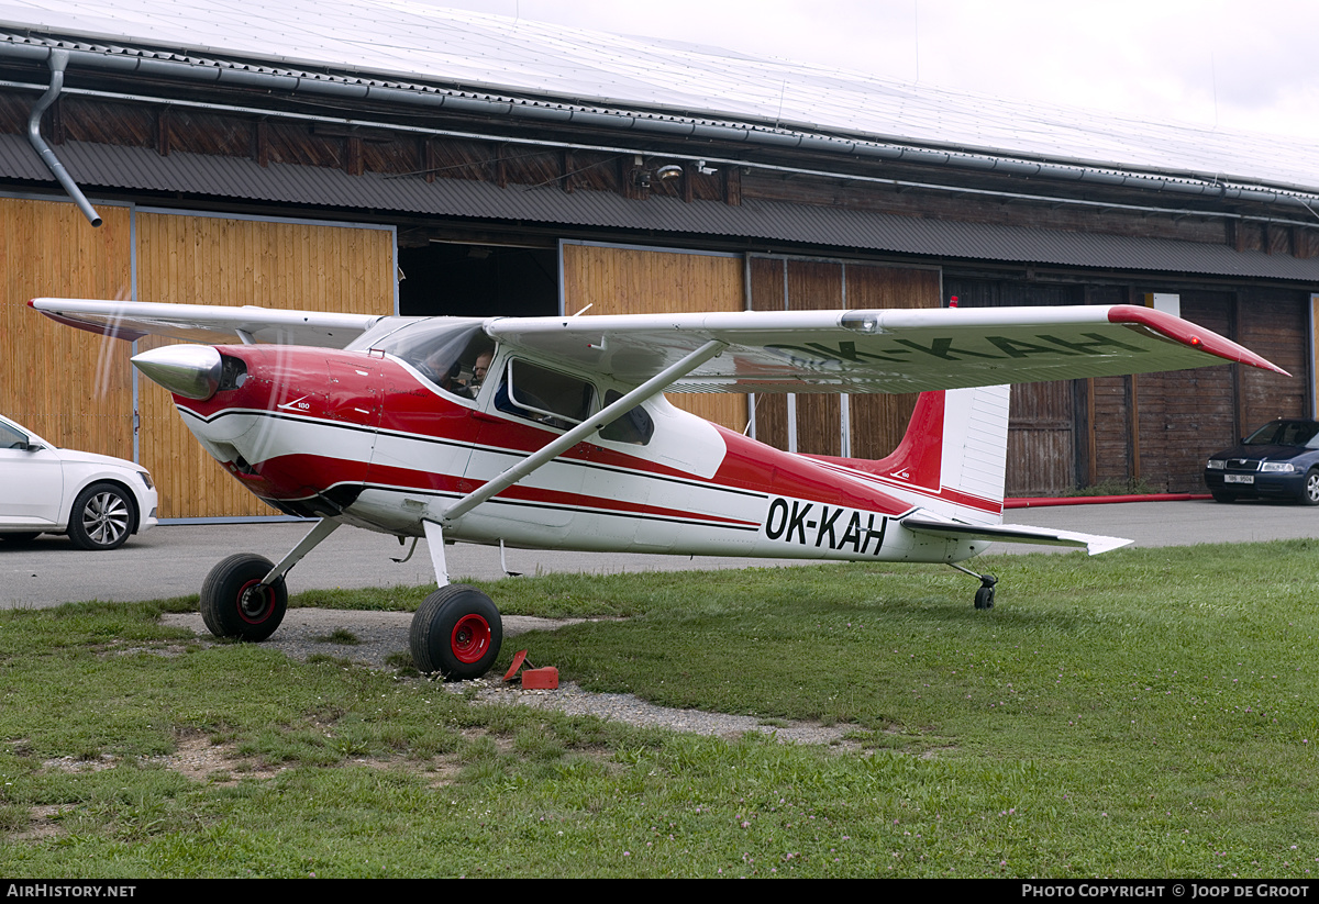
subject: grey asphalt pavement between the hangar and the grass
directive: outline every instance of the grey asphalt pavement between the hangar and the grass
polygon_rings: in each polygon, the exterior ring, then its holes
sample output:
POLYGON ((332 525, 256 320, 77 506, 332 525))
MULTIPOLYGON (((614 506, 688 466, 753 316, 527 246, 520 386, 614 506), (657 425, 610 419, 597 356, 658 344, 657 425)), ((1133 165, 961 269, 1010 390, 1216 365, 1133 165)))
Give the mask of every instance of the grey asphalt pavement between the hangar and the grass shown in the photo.
MULTIPOLYGON (((1211 501, 1125 502, 1012 509, 1005 521, 1108 536, 1136 546, 1249 543, 1319 536, 1319 507, 1279 503, 1220 505, 1211 501)), ((62 536, 42 536, 29 546, 0 543, 0 609, 44 607, 79 600, 154 600, 197 593, 206 573, 233 552, 259 552, 278 560, 309 523, 170 524, 132 538, 112 552, 84 552, 62 536)), ((992 552, 1063 551, 1058 547, 997 544, 992 552)), ((390 536, 342 528, 289 573, 290 592, 313 588, 359 588, 426 584, 434 580, 426 544, 412 560, 390 536)), ((1084 555, 1071 551, 1072 555, 1084 555)), ((459 543, 447 547, 454 580, 504 575, 497 548, 459 543)), ((802 564, 799 560, 719 559, 708 556, 636 556, 599 552, 532 552, 509 550, 509 569, 549 572, 644 572, 745 568, 802 564)))

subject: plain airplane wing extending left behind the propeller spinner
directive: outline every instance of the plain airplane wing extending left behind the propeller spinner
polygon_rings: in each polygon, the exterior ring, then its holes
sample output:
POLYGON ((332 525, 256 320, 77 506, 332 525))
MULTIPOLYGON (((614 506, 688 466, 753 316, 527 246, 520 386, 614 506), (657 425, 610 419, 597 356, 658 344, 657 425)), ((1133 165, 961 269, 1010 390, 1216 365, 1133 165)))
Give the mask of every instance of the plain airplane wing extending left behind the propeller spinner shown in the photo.
POLYGON ((379 316, 218 304, 154 304, 83 298, 34 298, 32 307, 59 323, 133 341, 169 336, 208 345, 272 343, 343 348, 379 316))

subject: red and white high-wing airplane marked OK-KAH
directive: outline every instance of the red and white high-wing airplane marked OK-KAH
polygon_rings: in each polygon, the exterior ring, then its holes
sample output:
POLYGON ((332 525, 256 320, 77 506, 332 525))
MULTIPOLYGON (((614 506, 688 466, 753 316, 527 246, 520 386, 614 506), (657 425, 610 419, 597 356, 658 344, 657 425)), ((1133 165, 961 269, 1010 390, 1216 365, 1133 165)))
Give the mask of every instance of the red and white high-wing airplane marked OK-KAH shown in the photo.
POLYGON ((489 597, 450 584, 446 542, 946 563, 981 580, 987 609, 995 579, 958 563, 991 542, 1128 543, 1002 526, 1004 383, 1224 361, 1285 373, 1132 306, 476 319, 29 303, 120 339, 208 343, 133 364, 237 481, 319 519, 278 563, 240 553, 211 571, 211 633, 269 636, 285 573, 340 524, 425 536, 439 589, 412 654, 451 677, 485 673, 503 629, 489 597), (667 389, 923 394, 898 448, 867 461, 781 452, 675 409, 667 389))

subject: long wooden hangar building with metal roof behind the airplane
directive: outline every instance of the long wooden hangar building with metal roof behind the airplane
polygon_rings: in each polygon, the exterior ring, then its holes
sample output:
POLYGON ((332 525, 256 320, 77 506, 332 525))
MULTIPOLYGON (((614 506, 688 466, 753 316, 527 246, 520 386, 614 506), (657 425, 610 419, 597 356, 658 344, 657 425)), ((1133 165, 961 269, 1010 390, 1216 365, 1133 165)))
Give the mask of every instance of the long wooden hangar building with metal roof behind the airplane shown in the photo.
MULTIPOLYGON (((47 7, 0 11, 0 411, 141 461, 162 518, 273 513, 127 345, 29 298, 405 315, 1157 302, 1294 374, 1016 387, 1014 495, 1195 490, 1207 453, 1315 407, 1319 154, 1301 141, 377 0, 47 7)), ((857 457, 890 451, 913 405, 686 402, 857 457)))

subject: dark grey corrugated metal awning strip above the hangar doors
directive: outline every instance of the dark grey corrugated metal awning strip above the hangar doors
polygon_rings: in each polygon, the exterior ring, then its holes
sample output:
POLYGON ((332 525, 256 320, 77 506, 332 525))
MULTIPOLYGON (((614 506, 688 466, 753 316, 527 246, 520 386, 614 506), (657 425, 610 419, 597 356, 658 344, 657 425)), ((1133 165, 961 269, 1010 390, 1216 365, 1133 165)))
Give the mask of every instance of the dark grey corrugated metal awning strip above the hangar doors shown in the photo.
MULTIPOLYGON (((799 242, 944 260, 1002 261, 1212 277, 1319 283, 1319 258, 1236 252, 1165 239, 1028 229, 894 216, 839 207, 747 200, 683 203, 677 198, 628 200, 612 192, 558 187, 500 188, 488 182, 419 177, 348 175, 342 170, 84 142, 59 145, 74 179, 95 190, 170 191, 256 202, 342 207, 397 213, 543 223, 565 227, 660 231, 799 242)), ((22 136, 0 134, 0 178, 54 184, 22 136)))

